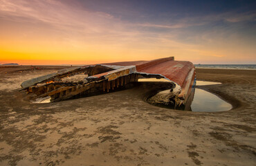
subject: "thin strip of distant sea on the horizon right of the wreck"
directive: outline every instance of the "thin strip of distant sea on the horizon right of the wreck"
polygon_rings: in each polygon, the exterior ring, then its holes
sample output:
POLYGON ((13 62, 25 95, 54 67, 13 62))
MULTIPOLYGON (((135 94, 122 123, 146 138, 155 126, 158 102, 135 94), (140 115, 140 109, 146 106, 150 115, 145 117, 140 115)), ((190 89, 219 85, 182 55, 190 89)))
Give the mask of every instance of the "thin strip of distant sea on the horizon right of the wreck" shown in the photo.
POLYGON ((256 70, 256 64, 194 64, 196 68, 222 68, 256 70))

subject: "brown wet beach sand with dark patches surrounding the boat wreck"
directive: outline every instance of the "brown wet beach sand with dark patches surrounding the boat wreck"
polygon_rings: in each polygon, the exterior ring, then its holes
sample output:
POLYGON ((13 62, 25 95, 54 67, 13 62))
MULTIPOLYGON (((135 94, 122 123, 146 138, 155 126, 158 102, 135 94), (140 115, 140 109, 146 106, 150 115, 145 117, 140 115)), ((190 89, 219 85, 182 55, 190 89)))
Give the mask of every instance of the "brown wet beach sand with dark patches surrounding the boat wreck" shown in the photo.
POLYGON ((255 165, 256 71, 196 69, 233 105, 214 113, 154 107, 141 87, 46 104, 19 92, 64 67, 0 68, 0 165, 255 165))

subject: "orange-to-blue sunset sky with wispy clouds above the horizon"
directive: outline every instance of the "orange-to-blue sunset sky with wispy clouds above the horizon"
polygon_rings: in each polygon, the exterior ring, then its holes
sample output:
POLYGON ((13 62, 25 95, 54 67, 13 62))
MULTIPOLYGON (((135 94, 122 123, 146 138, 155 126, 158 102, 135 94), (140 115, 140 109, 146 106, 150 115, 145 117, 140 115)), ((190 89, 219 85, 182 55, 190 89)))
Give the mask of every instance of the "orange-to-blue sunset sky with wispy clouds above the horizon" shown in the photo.
POLYGON ((0 64, 256 64, 256 1, 0 0, 0 64))

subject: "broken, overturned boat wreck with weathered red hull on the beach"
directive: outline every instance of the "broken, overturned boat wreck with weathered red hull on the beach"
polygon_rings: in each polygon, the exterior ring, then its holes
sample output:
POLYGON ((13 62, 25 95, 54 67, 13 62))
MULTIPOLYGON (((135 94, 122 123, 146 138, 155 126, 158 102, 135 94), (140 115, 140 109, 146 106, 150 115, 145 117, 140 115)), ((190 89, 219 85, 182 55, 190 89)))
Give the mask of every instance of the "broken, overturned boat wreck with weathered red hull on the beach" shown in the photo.
POLYGON ((51 102, 77 96, 108 93, 125 89, 138 78, 165 79, 165 89, 179 89, 172 96, 176 105, 190 102, 195 69, 191 62, 174 61, 174 57, 140 62, 116 62, 67 68, 57 73, 27 80, 21 84, 30 98, 51 98, 51 102))

